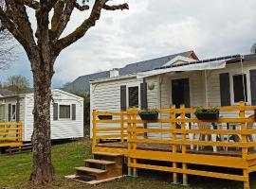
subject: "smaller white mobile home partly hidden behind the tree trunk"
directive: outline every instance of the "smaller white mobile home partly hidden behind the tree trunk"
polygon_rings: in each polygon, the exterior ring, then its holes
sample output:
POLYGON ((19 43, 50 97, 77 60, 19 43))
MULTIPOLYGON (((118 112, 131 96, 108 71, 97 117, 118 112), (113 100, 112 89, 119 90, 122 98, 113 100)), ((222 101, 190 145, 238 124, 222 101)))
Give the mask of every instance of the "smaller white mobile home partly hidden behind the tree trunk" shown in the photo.
MULTIPOLYGON (((62 90, 52 90, 50 104, 51 139, 83 137, 83 98, 62 90)), ((34 94, 0 97, 0 123, 22 122, 22 138, 30 141, 33 131, 34 94)))

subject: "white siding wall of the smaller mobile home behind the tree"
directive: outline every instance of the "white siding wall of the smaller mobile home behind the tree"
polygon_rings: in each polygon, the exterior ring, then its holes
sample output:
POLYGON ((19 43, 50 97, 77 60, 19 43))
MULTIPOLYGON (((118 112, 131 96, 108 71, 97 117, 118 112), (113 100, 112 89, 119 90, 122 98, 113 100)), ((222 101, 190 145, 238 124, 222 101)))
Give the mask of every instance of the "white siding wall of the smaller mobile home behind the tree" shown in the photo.
MULTIPOLYGON (((58 119, 53 120, 53 103, 50 104, 50 125, 51 139, 67 139, 83 137, 83 99, 79 96, 68 94, 60 90, 53 90, 54 103, 58 105, 76 104, 76 120, 58 119)), ((30 141, 33 131, 33 106, 34 95, 26 95, 26 119, 25 119, 25 138, 24 141, 30 141)), ((58 111, 60 112, 60 111, 58 111)), ((72 116, 72 112, 71 112, 72 116)))

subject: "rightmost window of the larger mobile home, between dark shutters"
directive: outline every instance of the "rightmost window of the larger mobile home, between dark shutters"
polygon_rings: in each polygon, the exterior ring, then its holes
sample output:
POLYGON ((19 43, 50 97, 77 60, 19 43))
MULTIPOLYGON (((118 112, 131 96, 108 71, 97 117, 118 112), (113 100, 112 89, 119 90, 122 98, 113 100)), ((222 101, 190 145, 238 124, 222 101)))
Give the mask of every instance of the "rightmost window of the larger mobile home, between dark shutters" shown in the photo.
POLYGON ((233 76, 234 102, 247 102, 247 75, 233 76))

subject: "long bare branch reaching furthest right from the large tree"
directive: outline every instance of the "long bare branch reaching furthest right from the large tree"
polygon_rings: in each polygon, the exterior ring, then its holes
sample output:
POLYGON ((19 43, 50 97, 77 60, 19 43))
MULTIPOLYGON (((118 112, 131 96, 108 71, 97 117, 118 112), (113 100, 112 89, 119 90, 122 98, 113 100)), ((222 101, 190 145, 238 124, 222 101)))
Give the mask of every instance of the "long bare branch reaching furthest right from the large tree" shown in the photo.
POLYGON ((80 40, 90 27, 95 26, 96 21, 98 21, 101 17, 101 9, 129 9, 128 4, 122 4, 119 6, 107 6, 107 1, 108 0, 96 0, 89 18, 84 20, 82 25, 77 27, 72 33, 57 42, 56 45, 58 53, 60 53, 65 47, 69 46, 71 43, 75 43, 80 40))

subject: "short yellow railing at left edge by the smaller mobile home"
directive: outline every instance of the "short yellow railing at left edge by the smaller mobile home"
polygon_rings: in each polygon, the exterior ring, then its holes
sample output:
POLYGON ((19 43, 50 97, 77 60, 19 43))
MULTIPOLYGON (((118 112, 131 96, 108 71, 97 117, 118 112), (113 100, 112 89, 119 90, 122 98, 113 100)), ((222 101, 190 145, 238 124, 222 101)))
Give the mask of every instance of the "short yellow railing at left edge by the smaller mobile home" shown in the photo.
POLYGON ((0 123, 0 146, 22 144, 22 122, 0 123))

